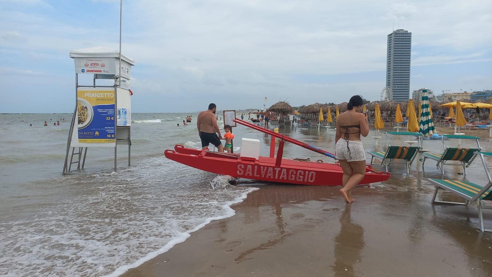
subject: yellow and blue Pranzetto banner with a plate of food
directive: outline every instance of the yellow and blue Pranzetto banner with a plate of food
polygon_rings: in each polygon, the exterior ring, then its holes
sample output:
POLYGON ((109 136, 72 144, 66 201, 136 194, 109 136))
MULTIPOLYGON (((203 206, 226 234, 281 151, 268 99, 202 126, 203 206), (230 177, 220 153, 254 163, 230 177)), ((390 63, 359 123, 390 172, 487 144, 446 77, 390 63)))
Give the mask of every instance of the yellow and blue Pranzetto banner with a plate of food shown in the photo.
POLYGON ((78 142, 113 143, 115 138, 115 91, 77 91, 78 142))

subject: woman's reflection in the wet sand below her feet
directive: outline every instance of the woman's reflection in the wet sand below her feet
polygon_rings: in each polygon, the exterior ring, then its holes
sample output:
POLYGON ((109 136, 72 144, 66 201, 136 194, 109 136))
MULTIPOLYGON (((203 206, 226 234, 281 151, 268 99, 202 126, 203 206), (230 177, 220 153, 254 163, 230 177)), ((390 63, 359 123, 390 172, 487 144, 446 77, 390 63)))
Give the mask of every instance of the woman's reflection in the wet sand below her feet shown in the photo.
POLYGON ((350 216, 351 205, 346 205, 340 216, 340 232, 335 236, 335 263, 331 266, 335 276, 361 276, 362 272, 355 270, 361 261, 364 248, 364 228, 350 216))

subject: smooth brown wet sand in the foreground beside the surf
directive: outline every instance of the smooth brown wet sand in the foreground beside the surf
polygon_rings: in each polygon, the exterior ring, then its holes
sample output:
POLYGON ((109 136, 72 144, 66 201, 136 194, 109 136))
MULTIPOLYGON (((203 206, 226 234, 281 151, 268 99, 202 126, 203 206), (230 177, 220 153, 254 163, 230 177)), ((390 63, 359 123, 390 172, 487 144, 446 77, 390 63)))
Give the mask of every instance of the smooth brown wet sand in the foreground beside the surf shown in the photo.
MULTIPOLYGON (((492 276, 492 234, 477 229, 477 208, 432 206, 423 179, 357 187, 353 204, 339 186, 263 185, 235 216, 123 276, 492 276)), ((484 217, 492 222, 490 210, 484 217)))

